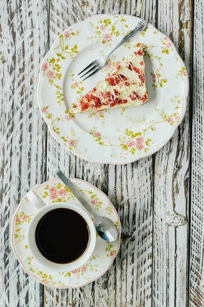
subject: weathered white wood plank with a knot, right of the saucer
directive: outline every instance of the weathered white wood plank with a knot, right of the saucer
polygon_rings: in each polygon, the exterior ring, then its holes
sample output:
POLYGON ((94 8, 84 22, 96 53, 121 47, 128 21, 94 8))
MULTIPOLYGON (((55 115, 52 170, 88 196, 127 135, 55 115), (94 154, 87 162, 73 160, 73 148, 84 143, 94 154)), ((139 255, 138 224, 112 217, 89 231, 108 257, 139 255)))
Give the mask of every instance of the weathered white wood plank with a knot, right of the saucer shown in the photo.
MULTIPOLYGON (((191 76, 191 0, 158 1, 158 29, 173 40, 191 76)), ((153 306, 187 306, 189 106, 172 139, 155 155, 153 306)))

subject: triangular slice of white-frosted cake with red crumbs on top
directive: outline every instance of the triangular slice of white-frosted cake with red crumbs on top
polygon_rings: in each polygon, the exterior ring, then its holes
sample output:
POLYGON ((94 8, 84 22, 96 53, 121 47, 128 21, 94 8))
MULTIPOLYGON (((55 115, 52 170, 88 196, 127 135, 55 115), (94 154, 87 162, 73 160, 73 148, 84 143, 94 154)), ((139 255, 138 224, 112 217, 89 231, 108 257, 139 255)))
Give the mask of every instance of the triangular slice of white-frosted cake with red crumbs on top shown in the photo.
POLYGON ((122 61, 105 80, 100 81, 82 97, 79 104, 69 108, 70 113, 80 113, 106 108, 129 107, 147 101, 144 52, 142 48, 122 61))

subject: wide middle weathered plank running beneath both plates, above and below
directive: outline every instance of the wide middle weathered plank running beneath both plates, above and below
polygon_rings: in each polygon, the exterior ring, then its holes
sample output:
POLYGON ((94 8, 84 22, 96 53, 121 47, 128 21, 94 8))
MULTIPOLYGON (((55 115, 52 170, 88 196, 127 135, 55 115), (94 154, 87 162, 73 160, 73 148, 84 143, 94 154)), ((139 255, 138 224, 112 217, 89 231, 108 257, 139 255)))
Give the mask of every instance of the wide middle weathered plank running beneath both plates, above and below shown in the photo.
MULTIPOLYGON (((156 1, 52 1, 50 43, 68 26, 99 13, 126 13, 155 24, 156 1)), ((103 190, 118 210, 121 249, 109 271, 97 281, 76 290, 44 289, 44 305, 75 307, 151 306, 153 158, 114 166, 85 162, 74 157, 48 135, 47 174, 58 166, 103 190), (144 197, 145 195, 145 197, 144 197)))

